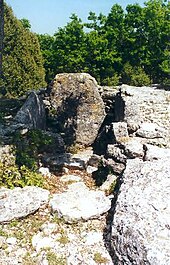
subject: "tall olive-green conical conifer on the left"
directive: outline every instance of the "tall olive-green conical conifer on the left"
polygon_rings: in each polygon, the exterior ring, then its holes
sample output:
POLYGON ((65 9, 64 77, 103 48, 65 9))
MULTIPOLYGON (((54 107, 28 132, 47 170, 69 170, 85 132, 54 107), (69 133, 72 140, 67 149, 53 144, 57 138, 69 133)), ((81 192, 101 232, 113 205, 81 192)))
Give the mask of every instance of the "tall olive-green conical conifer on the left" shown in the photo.
POLYGON ((43 58, 36 35, 25 28, 12 9, 4 6, 4 88, 0 94, 18 97, 45 86, 43 58))

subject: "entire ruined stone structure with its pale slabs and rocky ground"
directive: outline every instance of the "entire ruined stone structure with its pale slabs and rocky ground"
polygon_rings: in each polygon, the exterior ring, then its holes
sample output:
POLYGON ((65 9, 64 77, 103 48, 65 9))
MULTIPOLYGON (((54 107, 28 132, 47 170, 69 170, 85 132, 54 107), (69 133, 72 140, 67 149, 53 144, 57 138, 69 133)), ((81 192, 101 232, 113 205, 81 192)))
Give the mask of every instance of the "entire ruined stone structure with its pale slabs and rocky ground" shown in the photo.
MULTIPOLYGON (((50 264, 51 255, 56 264, 169 265, 169 118, 168 91, 99 88, 88 74, 59 74, 44 96, 32 92, 0 136, 46 127, 53 144, 42 150, 39 172, 52 179, 61 168, 62 189, 0 189, 0 263, 23 263, 33 247, 33 264, 50 264), (66 144, 84 149, 73 155, 66 144), (6 222, 29 215, 43 223, 25 246, 31 224, 20 242, 22 222, 6 222)), ((14 160, 11 148, 0 147, 1 163, 14 160)))

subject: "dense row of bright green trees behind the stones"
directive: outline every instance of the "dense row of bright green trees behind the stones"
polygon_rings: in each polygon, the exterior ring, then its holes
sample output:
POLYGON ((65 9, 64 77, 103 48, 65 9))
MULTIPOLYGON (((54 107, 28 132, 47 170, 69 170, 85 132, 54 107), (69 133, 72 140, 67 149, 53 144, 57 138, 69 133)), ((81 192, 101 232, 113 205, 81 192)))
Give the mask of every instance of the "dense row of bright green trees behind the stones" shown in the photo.
POLYGON ((126 10, 115 4, 107 16, 90 12, 84 24, 72 15, 53 37, 39 36, 47 82, 61 72, 88 72, 104 85, 118 84, 120 76, 138 86, 165 83, 170 71, 169 9, 166 1, 149 0, 126 10))

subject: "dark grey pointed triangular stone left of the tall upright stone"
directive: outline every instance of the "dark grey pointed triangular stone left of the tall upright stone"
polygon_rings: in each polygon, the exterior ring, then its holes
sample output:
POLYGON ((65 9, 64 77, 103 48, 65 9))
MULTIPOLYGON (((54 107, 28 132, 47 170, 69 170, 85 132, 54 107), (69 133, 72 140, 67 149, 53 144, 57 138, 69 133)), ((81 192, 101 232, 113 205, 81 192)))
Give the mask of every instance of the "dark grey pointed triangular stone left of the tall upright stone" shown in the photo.
POLYGON ((25 124, 31 129, 45 129, 46 114, 40 96, 32 92, 14 118, 15 123, 25 124))

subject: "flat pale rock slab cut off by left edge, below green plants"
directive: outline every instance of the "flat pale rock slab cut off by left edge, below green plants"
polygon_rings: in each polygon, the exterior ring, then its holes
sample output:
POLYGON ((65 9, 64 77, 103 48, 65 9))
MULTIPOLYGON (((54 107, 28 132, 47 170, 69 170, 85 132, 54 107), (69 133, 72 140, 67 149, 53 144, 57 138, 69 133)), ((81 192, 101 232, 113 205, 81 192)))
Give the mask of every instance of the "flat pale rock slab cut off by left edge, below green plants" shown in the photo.
POLYGON ((13 190, 0 189, 0 223, 25 217, 48 202, 49 191, 28 186, 13 190))

